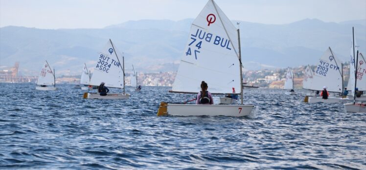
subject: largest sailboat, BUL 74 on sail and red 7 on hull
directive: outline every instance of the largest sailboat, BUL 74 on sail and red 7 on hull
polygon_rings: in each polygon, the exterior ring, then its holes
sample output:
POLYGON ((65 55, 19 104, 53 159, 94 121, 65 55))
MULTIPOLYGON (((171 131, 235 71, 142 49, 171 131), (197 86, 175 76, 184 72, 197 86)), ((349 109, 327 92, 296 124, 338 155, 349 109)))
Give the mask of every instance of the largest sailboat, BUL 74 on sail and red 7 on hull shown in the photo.
POLYGON ((201 82, 211 94, 241 95, 241 105, 188 105, 160 103, 158 116, 246 116, 253 105, 243 105, 243 76, 239 29, 213 0, 208 0, 191 24, 188 41, 172 90, 197 94, 201 82), (237 89, 240 93, 233 93, 237 89))

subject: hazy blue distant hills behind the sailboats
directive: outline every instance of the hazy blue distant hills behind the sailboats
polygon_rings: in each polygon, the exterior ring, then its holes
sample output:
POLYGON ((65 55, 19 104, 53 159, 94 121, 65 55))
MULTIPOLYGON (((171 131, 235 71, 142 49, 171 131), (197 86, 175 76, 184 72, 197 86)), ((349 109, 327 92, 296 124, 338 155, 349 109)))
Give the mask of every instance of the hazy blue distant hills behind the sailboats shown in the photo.
MULTIPOLYGON (((109 40, 124 52, 126 70, 177 70, 193 19, 140 20, 102 29, 0 28, 0 65, 20 62, 20 71, 40 69, 44 60, 58 75, 80 74, 84 63, 93 66, 95 55, 109 40)), ((233 21, 236 22, 236 21, 233 21)), ((330 46, 348 61, 352 26, 361 52, 366 50, 366 21, 341 23, 305 19, 289 24, 240 22, 242 58, 246 69, 315 64, 330 46)))

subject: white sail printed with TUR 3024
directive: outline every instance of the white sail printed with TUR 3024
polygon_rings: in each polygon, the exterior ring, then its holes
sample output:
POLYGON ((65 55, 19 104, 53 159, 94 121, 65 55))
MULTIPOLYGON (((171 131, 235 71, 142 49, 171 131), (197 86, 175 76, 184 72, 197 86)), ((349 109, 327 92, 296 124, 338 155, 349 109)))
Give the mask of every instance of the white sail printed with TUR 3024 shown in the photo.
POLYGON ((89 85, 105 83, 107 87, 123 88, 122 57, 111 41, 98 53, 97 63, 89 85), (116 57, 116 54, 118 58, 116 57))

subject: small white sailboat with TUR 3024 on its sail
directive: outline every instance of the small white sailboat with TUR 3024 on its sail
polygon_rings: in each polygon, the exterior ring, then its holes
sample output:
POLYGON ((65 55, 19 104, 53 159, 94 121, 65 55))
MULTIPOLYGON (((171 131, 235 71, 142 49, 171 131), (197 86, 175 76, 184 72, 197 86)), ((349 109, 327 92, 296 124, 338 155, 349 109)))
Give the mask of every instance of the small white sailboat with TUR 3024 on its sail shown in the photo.
MULTIPOLYGON (((123 65, 121 65, 118 55, 120 53, 116 51, 110 39, 99 52, 89 85, 98 86, 101 82, 104 82, 106 87, 123 88, 123 93, 107 93, 106 96, 101 96, 99 93, 86 92, 84 93, 85 99, 128 99, 130 97, 130 94, 125 93, 124 88, 124 62, 122 61, 123 65)), ((124 57, 122 57, 122 60, 124 60, 124 57)))

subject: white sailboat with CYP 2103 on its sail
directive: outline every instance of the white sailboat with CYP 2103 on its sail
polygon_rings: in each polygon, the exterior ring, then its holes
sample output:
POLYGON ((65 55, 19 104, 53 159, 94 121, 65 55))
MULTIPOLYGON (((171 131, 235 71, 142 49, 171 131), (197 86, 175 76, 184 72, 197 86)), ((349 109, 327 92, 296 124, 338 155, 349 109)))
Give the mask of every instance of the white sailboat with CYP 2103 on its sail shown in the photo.
MULTIPOLYGON (((322 91, 323 86, 326 86, 328 92, 341 93, 343 89, 343 64, 334 55, 332 49, 328 49, 320 57, 316 71, 313 72, 313 78, 305 82, 304 89, 322 91)), ((310 67, 308 67, 310 69, 310 67)), ((306 73, 309 74, 309 73, 306 73)), ((321 97, 305 96, 304 102, 308 103, 337 103, 348 100, 348 98, 328 97, 322 99, 321 97)))

